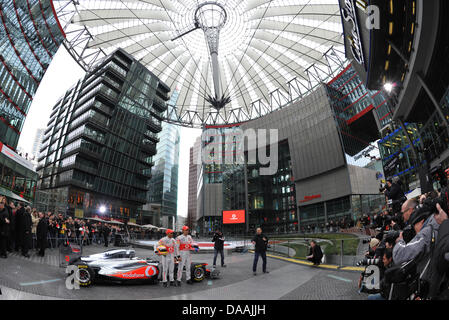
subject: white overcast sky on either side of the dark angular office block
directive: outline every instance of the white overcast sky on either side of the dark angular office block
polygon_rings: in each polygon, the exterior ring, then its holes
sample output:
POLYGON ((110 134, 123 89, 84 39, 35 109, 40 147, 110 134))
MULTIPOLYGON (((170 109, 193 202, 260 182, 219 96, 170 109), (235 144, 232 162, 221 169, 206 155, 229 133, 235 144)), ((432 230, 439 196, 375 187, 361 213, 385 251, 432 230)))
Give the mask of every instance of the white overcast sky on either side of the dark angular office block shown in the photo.
MULTIPOLYGON (((31 153, 36 130, 47 128, 51 110, 56 101, 84 75, 81 67, 61 46, 45 73, 34 96, 20 135, 18 148, 31 153)), ((179 151, 178 215, 187 216, 189 181, 189 149, 201 134, 199 129, 179 127, 181 135, 179 151)))

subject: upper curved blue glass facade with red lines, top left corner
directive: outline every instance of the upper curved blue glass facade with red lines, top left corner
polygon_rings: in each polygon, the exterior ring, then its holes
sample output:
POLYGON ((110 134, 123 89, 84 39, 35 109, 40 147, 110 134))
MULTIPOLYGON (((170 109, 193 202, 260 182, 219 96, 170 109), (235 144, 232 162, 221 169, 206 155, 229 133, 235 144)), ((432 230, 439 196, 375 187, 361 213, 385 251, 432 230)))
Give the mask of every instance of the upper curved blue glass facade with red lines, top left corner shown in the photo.
POLYGON ((34 94, 65 39, 52 0, 0 3, 0 141, 15 150, 34 94))

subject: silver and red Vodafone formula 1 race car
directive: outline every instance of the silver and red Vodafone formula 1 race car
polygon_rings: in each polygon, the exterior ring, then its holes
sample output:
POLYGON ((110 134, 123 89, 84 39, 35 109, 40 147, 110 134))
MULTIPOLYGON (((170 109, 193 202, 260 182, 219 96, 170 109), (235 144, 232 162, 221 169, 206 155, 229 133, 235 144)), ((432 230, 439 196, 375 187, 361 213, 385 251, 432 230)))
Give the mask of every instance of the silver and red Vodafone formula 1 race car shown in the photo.
MULTIPOLYGON (((76 272, 80 286, 88 287, 101 281, 118 283, 157 283, 160 280, 162 266, 151 258, 141 259, 135 256, 133 249, 114 249, 78 257, 69 261, 69 265, 77 267, 68 276, 76 272)), ((218 270, 209 270, 207 263, 192 262, 191 278, 201 282, 205 278, 217 278, 218 270)), ((175 264, 175 277, 177 274, 175 264)))

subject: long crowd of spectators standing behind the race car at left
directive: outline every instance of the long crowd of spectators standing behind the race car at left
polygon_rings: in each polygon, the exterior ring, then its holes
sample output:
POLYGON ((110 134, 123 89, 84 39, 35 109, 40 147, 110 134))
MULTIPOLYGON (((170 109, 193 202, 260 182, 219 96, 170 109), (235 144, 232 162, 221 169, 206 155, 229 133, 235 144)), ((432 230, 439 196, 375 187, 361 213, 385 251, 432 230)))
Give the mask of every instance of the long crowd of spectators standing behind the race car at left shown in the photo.
POLYGON ((108 247, 120 237, 160 239, 162 230, 80 219, 63 213, 38 212, 22 202, 8 202, 0 196, 0 257, 19 252, 30 257, 30 250, 45 256, 46 248, 59 248, 67 243, 88 246, 93 243, 108 247))

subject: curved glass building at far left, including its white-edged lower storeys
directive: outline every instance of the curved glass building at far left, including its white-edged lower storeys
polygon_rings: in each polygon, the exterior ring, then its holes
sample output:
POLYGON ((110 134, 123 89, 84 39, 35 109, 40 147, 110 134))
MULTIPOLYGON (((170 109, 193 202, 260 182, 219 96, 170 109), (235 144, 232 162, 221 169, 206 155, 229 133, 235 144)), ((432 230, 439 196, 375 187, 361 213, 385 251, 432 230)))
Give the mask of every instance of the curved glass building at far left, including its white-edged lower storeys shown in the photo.
POLYGON ((33 202, 33 165, 16 153, 36 90, 65 39, 51 0, 0 2, 0 188, 33 202))

